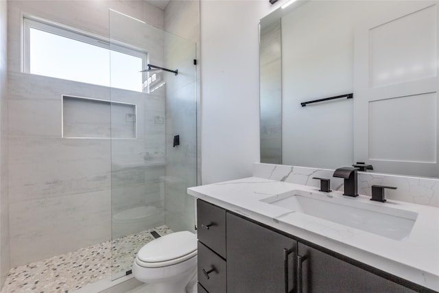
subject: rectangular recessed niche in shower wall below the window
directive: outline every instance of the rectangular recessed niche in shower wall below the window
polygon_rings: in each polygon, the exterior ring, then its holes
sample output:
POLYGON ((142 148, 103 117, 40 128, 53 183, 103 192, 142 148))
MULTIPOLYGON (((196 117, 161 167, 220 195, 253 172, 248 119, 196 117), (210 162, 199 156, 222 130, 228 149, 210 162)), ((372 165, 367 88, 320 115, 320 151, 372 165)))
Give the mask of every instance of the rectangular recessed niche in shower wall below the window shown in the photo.
POLYGON ((62 137, 135 139, 136 105, 62 95, 62 137))

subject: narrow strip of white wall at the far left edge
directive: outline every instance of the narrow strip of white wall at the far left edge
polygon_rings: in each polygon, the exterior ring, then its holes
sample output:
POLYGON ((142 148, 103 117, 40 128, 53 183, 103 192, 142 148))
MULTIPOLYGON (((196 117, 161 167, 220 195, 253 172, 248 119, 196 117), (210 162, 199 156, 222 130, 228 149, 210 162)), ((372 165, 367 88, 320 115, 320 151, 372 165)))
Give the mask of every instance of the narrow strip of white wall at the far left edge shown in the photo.
POLYGON ((0 1, 0 288, 10 269, 8 198, 7 3, 0 1))

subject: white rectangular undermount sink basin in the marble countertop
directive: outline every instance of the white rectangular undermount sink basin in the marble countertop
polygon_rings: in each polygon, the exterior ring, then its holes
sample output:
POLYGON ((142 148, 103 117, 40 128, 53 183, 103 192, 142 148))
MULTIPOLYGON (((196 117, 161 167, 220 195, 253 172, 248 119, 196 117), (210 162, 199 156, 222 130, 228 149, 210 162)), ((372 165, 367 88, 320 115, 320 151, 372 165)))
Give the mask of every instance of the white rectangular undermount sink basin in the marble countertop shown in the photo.
POLYGON ((412 211, 302 190, 261 201, 399 241, 409 237, 418 217, 412 211))

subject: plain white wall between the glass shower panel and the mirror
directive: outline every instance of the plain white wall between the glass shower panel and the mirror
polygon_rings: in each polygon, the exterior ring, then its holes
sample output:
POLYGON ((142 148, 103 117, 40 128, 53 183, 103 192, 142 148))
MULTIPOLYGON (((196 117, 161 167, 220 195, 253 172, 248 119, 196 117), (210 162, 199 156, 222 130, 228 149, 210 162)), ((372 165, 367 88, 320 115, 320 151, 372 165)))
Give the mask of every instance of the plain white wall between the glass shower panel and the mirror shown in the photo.
POLYGON ((259 19, 280 4, 201 2, 202 184, 259 162, 259 19))

